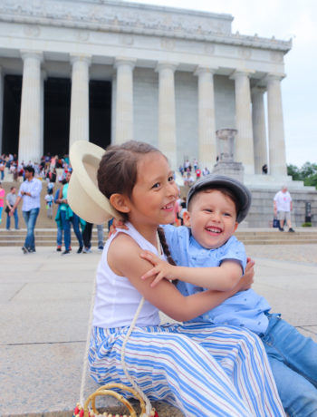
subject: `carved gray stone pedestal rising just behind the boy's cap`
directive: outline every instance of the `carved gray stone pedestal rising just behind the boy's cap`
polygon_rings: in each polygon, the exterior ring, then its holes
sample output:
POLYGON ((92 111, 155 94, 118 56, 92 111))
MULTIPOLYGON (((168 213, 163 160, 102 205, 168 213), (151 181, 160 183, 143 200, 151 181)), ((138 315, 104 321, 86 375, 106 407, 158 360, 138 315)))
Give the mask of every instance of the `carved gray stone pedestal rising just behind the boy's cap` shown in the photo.
POLYGON ((216 131, 219 160, 213 169, 213 174, 227 175, 244 182, 244 166, 242 162, 235 162, 235 129, 221 129, 216 131))

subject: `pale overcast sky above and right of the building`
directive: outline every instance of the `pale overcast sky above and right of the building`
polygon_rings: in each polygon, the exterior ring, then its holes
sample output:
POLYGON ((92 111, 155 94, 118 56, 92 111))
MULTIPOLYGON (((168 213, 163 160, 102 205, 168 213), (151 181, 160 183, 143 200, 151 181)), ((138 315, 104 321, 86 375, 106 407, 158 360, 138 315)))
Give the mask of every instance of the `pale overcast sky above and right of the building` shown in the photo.
POLYGON ((283 117, 288 164, 317 163, 317 1, 316 0, 130 0, 234 16, 232 30, 293 39, 284 57, 283 117))

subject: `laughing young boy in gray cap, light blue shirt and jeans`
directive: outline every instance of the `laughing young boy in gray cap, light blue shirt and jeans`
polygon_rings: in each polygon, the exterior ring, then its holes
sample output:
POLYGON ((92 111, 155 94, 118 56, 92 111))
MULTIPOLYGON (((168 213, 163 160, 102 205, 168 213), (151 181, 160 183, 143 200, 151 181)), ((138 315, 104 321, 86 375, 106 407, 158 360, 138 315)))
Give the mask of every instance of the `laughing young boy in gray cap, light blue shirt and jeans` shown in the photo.
MULTIPOLYGON (((144 253, 142 257, 154 267, 142 278, 156 276, 152 286, 162 277, 178 279, 178 289, 184 295, 234 287, 245 270, 246 257, 244 245, 233 234, 250 204, 250 191, 235 179, 208 175, 198 180, 187 196, 187 227, 164 227, 178 267, 144 253)), ((290 416, 317 416, 317 344, 280 315, 269 313, 270 309, 263 296, 249 289, 194 321, 241 326, 259 335, 285 411, 290 416)))

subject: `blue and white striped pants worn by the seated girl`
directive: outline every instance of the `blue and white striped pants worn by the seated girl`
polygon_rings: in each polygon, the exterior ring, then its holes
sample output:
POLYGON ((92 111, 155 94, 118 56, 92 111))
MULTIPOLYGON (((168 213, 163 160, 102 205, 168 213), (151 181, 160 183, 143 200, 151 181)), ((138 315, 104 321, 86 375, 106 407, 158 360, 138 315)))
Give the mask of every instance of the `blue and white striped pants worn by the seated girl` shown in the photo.
MULTIPOLYGON (((120 363, 128 329, 93 328, 89 362, 97 383, 130 385, 120 363)), ((125 363, 151 401, 169 402, 185 416, 285 415, 263 344, 237 327, 135 327, 125 363)))

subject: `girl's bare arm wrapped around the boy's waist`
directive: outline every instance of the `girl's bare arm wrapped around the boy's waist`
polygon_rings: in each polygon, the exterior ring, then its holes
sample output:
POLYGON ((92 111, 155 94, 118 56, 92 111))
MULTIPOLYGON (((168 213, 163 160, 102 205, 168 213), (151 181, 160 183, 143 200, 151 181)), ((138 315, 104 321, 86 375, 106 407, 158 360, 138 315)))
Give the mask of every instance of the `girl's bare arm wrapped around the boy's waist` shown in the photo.
POLYGON ((237 291, 247 289, 253 282, 253 274, 244 276, 231 291, 207 290, 192 296, 182 296, 176 286, 163 279, 157 286, 150 286, 152 279, 142 280, 139 276, 149 271, 149 262, 139 255, 142 252, 130 236, 120 233, 111 242, 108 251, 108 264, 119 276, 127 276, 130 283, 163 313, 177 321, 191 320, 206 313, 237 291))

